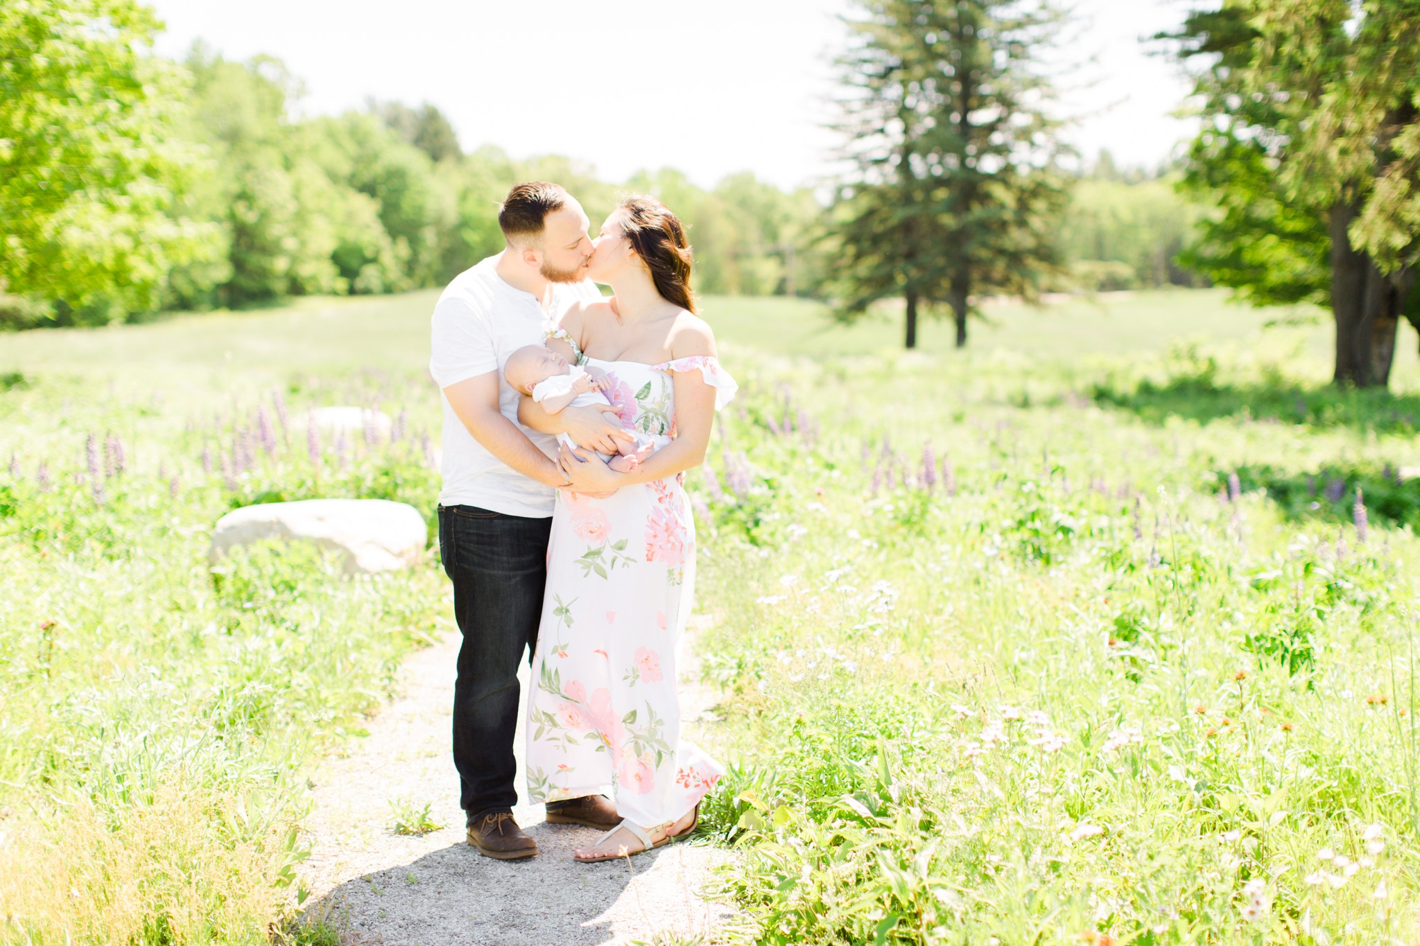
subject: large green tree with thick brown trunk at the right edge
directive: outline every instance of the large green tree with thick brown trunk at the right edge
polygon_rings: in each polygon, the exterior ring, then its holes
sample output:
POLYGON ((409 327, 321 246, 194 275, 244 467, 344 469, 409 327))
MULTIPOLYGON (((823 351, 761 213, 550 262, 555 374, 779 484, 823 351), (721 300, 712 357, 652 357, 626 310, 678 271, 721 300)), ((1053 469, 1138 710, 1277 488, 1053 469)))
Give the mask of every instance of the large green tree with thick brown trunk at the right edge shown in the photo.
POLYGON ((1384 387, 1420 328, 1420 10, 1383 0, 1227 0, 1170 37, 1204 125, 1183 186, 1216 208, 1187 265, 1257 305, 1332 309, 1333 380, 1384 387))

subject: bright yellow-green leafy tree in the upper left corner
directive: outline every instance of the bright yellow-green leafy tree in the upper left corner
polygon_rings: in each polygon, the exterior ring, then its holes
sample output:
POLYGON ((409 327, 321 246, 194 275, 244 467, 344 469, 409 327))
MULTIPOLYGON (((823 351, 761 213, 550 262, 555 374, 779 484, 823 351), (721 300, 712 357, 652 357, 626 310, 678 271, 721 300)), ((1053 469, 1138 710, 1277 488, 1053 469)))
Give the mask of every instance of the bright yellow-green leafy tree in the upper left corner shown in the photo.
MULTIPOLYGON (((146 51, 158 28, 132 0, 0 10, 0 291, 64 322, 151 309, 173 267, 216 254, 216 227, 176 207, 199 157, 172 135, 186 88, 146 51)), ((47 315, 11 312, 0 326, 47 315)))

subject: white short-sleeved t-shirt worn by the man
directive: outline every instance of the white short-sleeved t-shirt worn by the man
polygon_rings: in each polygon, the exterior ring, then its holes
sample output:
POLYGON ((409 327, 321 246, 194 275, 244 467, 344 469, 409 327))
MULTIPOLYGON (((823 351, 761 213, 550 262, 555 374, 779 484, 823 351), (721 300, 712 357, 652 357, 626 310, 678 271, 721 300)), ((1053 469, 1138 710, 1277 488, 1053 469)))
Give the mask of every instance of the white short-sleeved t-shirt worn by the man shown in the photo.
MULTIPOLYGON (((513 516, 552 515, 552 488, 524 477, 473 438, 443 389, 470 377, 498 373, 498 410, 518 424, 518 393, 503 380, 508 356, 524 345, 542 345, 544 333, 577 302, 601 299, 588 279, 552 286, 551 312, 530 292, 503 281, 496 267, 503 254, 459 274, 439 296, 432 319, 429 373, 443 401, 444 506, 480 506, 513 516)), ((557 440, 518 424, 538 450, 557 454, 557 440)))

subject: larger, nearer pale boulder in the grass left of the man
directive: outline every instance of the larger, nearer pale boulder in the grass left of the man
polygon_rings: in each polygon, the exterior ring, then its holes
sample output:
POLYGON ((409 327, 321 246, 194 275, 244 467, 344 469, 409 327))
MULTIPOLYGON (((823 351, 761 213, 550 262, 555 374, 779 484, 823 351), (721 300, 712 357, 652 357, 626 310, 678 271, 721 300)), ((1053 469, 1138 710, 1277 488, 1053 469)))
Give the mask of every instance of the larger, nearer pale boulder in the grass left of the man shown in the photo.
POLYGON ((429 529, 419 511, 389 499, 300 499, 233 509, 217 519, 209 562, 234 546, 281 539, 341 553, 346 574, 398 572, 425 553, 429 529))

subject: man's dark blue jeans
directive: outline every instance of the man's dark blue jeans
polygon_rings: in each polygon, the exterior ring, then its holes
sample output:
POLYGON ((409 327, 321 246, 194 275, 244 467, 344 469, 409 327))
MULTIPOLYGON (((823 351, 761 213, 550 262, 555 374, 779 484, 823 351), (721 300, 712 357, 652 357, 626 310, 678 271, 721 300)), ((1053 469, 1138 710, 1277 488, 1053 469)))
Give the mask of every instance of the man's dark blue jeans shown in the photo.
POLYGON ((453 764, 470 820, 511 811, 518 665, 532 658, 547 583, 551 519, 439 506, 439 557, 463 634, 453 688, 453 764))

